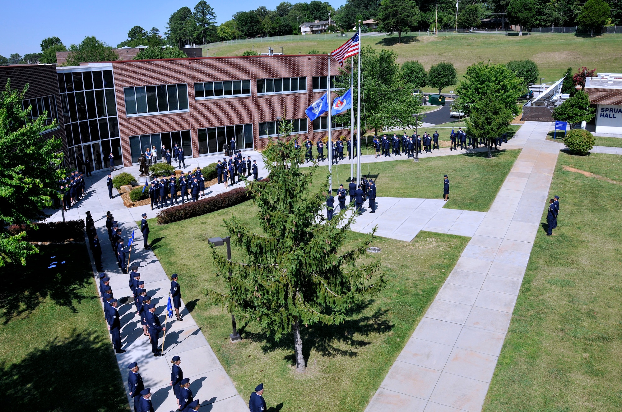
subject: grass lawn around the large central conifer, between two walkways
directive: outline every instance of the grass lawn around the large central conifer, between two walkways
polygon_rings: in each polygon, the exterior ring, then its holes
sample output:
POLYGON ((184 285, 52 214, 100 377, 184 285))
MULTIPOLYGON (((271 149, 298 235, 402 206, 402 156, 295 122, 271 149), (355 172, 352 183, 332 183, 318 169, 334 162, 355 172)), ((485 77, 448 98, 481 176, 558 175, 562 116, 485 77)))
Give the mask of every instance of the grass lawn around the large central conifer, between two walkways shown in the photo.
MULTIPOLYGON (((207 239, 226 236, 223 219, 232 215, 259 232, 256 213, 246 202, 165 226, 151 219, 152 247, 167 273, 179 273, 187 308, 244 399, 264 382, 269 408, 363 411, 468 239, 430 232, 420 232, 412 242, 376 238, 372 245, 382 252, 367 259, 382 259, 388 287, 353 310, 345 324, 303 328, 307 373, 299 374, 293 366, 290 336, 277 342, 256 324, 243 326, 238 320, 243 340, 231 344, 230 316, 205 297, 207 288, 223 288, 214 275, 207 239)), ((347 243, 362 236, 351 232, 347 243)), ((225 247, 219 252, 225 254, 225 247)), ((241 259, 241 252, 233 249, 233 259, 241 259)))

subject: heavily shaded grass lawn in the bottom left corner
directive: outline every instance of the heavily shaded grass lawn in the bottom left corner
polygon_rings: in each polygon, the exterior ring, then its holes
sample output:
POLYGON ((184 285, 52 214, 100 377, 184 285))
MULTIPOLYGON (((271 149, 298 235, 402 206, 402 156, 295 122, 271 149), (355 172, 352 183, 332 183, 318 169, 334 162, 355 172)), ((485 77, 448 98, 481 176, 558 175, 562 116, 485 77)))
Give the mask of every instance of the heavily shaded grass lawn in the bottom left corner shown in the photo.
POLYGON ((2 409, 129 411, 85 244, 31 259, 2 277, 2 409))

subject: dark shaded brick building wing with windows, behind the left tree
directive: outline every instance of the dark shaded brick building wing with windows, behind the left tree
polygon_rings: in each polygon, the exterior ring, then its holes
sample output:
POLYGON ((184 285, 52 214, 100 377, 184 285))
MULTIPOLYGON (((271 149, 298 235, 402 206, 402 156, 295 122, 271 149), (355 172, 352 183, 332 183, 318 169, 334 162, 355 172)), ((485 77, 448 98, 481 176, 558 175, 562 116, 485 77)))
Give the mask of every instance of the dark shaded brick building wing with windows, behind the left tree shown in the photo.
POLYGON ((65 125, 60 114, 60 93, 58 91, 58 80, 56 75, 56 65, 10 65, 0 67, 0 85, 2 89, 6 86, 7 80, 11 80, 11 88, 23 90, 28 85, 26 96, 24 96, 24 108, 32 106, 31 118, 35 119, 47 112, 46 123, 52 125, 53 119, 58 119, 55 128, 47 130, 43 137, 49 138, 56 136, 63 141, 63 151, 67 153, 67 139, 65 139, 65 125))

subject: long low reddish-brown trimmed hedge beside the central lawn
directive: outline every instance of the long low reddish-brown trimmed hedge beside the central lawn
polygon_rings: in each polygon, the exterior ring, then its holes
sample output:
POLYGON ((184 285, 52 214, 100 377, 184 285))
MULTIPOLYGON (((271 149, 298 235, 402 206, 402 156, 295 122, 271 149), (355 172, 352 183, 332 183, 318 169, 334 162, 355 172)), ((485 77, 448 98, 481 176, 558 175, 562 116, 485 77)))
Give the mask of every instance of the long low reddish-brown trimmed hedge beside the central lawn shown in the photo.
POLYGON ((220 209, 230 208, 249 199, 251 197, 246 192, 246 188, 236 188, 211 198, 165 209, 157 215, 157 222, 158 224, 167 224, 182 221, 190 219, 190 217, 197 217, 220 209))

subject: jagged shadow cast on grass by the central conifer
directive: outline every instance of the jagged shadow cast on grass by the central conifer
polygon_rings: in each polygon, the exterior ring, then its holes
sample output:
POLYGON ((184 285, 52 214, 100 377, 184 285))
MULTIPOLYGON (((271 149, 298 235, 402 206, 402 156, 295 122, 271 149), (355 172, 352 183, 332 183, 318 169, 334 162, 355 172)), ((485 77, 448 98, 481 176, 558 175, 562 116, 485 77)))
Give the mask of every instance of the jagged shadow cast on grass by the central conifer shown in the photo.
MULTIPOLYGON (((388 310, 376 309, 376 311, 367 316, 352 318, 356 314, 360 314, 364 309, 368 308, 373 301, 366 301, 351 309, 346 314, 348 319, 342 324, 323 325, 320 323, 304 326, 300 329, 302 337, 302 354, 305 362, 309 360, 312 350, 318 352, 322 356, 337 357, 347 356, 355 357, 358 352, 356 349, 368 346, 371 342, 361 339, 371 334, 383 334, 391 331, 393 325, 387 318, 388 310), (339 346, 346 346, 347 349, 341 349, 339 346)), ((294 337, 292 333, 283 336, 278 341, 267 332, 249 332, 244 327, 239 330, 243 339, 249 341, 262 342, 262 350, 264 353, 273 352, 274 350, 289 350, 290 355, 285 356, 285 360, 295 364, 294 359, 294 337)))

